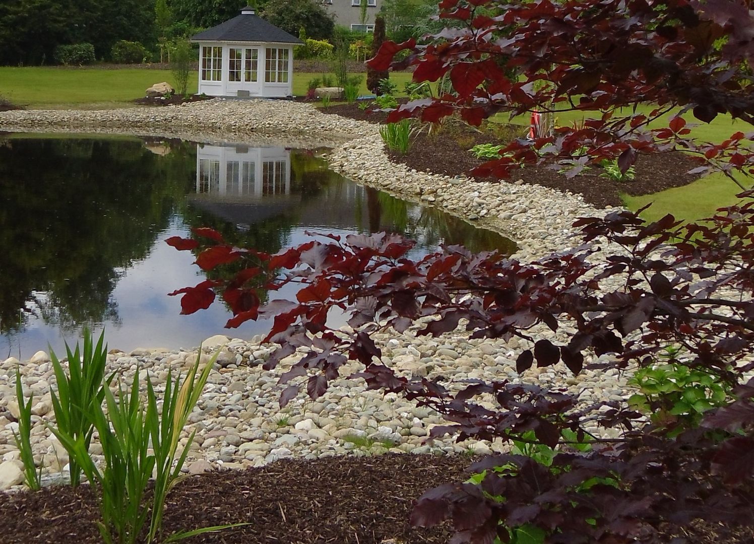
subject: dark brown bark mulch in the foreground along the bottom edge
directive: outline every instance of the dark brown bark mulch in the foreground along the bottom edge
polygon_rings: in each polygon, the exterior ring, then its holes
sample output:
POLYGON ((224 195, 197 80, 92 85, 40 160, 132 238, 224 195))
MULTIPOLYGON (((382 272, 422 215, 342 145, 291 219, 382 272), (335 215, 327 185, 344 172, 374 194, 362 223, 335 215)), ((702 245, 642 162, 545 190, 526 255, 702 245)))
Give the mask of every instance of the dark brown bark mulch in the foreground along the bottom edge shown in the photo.
MULTIPOLYGON (((166 534, 250 525, 195 536, 187 544, 415 544, 448 542, 449 527, 412 528, 413 501, 430 487, 461 481, 467 457, 393 455, 287 460, 262 469, 185 479, 168 499, 166 534)), ((94 544, 97 505, 87 486, 0 494, 0 542, 94 544)), ((754 542, 752 527, 668 527, 694 544, 754 542)))

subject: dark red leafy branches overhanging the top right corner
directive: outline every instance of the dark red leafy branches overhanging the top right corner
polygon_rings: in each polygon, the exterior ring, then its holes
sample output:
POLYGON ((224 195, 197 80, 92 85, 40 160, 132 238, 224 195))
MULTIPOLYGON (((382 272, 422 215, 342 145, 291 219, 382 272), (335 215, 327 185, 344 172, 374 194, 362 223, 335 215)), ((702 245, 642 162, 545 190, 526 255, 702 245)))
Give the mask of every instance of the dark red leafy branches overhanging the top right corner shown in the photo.
POLYGON ((578 130, 561 127, 549 138, 512 142, 502 151, 505 157, 479 173, 507 177, 519 164, 557 160, 575 175, 613 157, 625 171, 639 153, 671 149, 700 157, 697 172, 722 170, 731 179, 754 166, 743 133, 734 133, 725 145, 697 142, 681 117, 690 112, 702 122, 717 115, 752 121, 754 23, 744 2, 610 0, 598 6, 579 0, 503 8, 489 0, 446 0, 440 8, 441 20, 463 26, 434 35, 427 45, 385 44, 369 63, 388 69, 397 52, 409 50, 395 68, 414 66, 414 81, 449 74, 455 93, 428 106, 404 105, 391 121, 409 116, 437 121, 460 112, 478 125, 501 111, 553 109, 595 116, 578 130), (647 112, 645 104, 656 107, 647 112), (658 127, 667 117, 670 123, 658 127))

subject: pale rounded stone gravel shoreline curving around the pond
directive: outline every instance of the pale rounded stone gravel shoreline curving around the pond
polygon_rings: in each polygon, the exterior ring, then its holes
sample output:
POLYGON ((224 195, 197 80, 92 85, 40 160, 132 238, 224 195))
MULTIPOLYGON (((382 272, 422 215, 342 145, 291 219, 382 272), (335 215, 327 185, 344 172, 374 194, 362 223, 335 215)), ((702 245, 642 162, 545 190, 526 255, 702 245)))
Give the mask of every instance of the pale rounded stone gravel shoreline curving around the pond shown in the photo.
MULTIPOLYGON (((388 159, 374 125, 323 115, 311 105, 296 102, 211 100, 106 112, 4 112, 0 113, 0 130, 130 133, 213 142, 332 147, 329 161, 333 170, 511 237, 519 245, 514 256, 524 260, 572 246, 573 218, 605 214, 605 210, 584 203, 579 195, 538 185, 472 182, 409 170, 388 159)), ((470 340, 461 331, 440 338, 416 337, 416 330, 418 325, 403 335, 374 335, 385 352, 386 362, 406 375, 443 376, 455 381, 453 387, 461 387, 460 380, 470 378, 538 380, 545 387, 567 387, 584 402, 623 399, 631 393, 627 377, 614 371, 584 371, 574 377, 557 365, 516 374, 516 356, 529 347, 516 339, 508 343, 470 340)), ((542 327, 532 333, 536 338, 562 340, 568 331, 555 335, 542 327)), ((186 466, 190 473, 218 466, 264 466, 287 457, 314 459, 387 451, 451 454, 473 450, 486 454, 504 449, 501 443, 456 444, 451 437, 429 443, 426 437, 431 426, 443 423, 437 414, 402 397, 366 391, 363 383, 345 377, 334 380, 317 402, 299 397, 280 410, 277 399, 283 386, 277 380, 300 354, 290 356, 274 371, 263 371, 261 365, 272 348, 260 345, 259 340, 213 337, 205 341, 201 354, 197 350, 112 350, 108 367, 122 371, 124 380, 133 377, 138 368, 160 391, 169 369, 188 368, 197 356, 206 361, 210 350, 221 349, 218 365, 182 435, 184 445, 189 432, 197 431, 186 466)), ((35 398, 32 445, 44 467, 45 481, 60 480, 67 463, 65 451, 45 426, 53 417, 49 393, 53 371, 48 353, 38 352, 23 363, 11 357, 0 362, 0 489, 18 489, 23 480, 13 439, 18 414, 14 373, 19 365, 25 395, 33 393, 35 398)), ((342 375, 359 367, 358 363, 351 363, 342 375)), ((100 445, 94 443, 92 452, 101 454, 100 445)))

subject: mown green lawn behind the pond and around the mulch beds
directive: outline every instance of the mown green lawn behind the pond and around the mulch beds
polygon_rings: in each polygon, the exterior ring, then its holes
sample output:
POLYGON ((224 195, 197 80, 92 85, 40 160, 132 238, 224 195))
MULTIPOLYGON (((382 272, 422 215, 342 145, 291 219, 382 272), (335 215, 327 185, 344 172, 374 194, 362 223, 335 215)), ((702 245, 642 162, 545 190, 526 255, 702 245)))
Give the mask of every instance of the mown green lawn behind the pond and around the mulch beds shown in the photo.
MULTIPOLYGON (((335 76, 329 74, 333 79, 335 76)), ((320 78, 316 73, 293 75, 293 93, 305 95, 308 81, 320 78)), ((399 90, 410 81, 409 72, 391 74, 391 80, 399 90)), ((28 108, 116 108, 132 105, 132 100, 144 96, 144 90, 152 84, 167 81, 173 84, 169 70, 159 69, 98 69, 59 67, 0 67, 0 96, 28 108)), ((197 90, 197 79, 189 81, 189 91, 197 90)), ((366 77, 361 83, 361 92, 367 93, 366 77)), ((648 112, 651 107, 639 108, 648 112)), ((559 124, 570 124, 584 117, 580 112, 563 112, 559 124)), ((691 116, 687 119, 691 122, 691 116)), ((507 122, 507 115, 495 116, 495 121, 507 122)), ((513 119, 513 123, 527 124, 526 116, 513 119)), ((743 123, 734 123, 728 117, 719 116, 710 124, 699 123, 692 134, 699 139, 720 142, 736 130, 746 130, 743 123)), ((669 189, 660 193, 630 197, 624 195, 630 209, 638 209, 646 203, 654 205, 645 212, 647 219, 656 219, 667 212, 686 220, 710 215, 719 206, 735 202, 739 191, 725 176, 713 175, 685 187, 669 189)))

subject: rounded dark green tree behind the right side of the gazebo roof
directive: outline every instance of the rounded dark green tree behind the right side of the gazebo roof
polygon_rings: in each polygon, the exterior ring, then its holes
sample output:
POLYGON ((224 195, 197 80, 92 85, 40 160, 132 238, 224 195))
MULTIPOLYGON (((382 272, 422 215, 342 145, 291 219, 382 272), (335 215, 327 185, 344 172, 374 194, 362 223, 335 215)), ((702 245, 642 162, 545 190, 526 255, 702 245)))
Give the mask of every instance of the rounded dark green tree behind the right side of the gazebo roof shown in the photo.
POLYGON ((294 36, 304 27, 310 38, 326 40, 335 29, 333 16, 314 0, 268 0, 261 16, 294 36))

